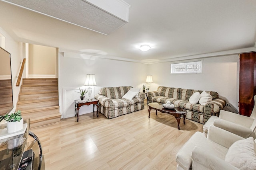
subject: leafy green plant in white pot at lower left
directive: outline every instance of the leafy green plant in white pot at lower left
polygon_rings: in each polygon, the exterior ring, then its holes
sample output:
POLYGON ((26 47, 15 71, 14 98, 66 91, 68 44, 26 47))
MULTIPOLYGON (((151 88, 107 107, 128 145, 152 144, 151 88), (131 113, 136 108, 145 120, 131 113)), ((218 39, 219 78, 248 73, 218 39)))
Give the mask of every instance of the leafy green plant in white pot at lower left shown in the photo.
POLYGON ((20 110, 15 111, 10 115, 7 113, 4 115, 4 120, 7 121, 7 133, 13 133, 23 129, 23 119, 20 110))

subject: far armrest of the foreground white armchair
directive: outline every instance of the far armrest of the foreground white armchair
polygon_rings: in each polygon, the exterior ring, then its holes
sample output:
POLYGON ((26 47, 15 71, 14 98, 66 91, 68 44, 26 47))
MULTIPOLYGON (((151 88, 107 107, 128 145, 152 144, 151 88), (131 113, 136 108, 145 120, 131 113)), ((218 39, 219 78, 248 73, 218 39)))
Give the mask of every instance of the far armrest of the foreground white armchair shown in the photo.
POLYGON ((210 125, 208 129, 207 138, 226 148, 229 148, 234 142, 244 139, 243 137, 213 125, 210 125))

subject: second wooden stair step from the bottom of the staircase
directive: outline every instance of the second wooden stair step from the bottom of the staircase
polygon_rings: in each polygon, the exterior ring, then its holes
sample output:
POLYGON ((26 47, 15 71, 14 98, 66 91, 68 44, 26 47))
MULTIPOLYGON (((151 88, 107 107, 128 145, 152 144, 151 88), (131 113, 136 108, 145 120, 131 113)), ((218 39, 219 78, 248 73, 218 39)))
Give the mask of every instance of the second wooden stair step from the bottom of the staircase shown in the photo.
POLYGON ((28 110, 22 110, 22 116, 29 114, 52 114, 52 113, 58 113, 60 112, 60 106, 52 106, 52 107, 40 107, 36 109, 28 109, 28 110))

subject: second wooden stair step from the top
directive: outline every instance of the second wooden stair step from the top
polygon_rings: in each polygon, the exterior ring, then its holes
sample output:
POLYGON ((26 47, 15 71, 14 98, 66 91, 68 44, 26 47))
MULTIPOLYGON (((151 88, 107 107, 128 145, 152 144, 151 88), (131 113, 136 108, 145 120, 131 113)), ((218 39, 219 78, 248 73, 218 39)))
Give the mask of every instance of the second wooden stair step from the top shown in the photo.
POLYGON ((45 92, 58 90, 58 84, 21 85, 20 92, 45 92))

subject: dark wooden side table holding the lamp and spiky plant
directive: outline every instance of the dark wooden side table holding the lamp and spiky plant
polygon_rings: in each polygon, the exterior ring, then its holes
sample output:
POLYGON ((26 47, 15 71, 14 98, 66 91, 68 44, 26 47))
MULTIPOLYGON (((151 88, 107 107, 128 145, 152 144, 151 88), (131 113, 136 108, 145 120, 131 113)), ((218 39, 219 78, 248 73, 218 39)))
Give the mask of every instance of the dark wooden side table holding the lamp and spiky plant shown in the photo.
POLYGON ((84 105, 90 105, 90 104, 93 104, 93 113, 94 113, 94 106, 96 105, 97 106, 97 117, 99 117, 98 115, 98 100, 96 98, 92 98, 91 100, 75 100, 75 111, 76 111, 76 116, 77 116, 77 119, 76 121, 79 121, 79 109, 81 106, 84 106, 84 105))

